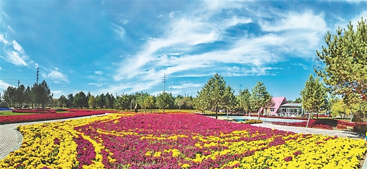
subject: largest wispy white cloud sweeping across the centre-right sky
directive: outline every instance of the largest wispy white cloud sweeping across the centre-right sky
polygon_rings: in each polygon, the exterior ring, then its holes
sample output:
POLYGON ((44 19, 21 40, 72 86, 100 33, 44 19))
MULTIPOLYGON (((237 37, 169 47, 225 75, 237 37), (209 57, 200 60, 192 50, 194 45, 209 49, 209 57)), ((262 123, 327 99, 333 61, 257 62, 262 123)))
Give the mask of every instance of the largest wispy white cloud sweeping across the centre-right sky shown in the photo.
MULTIPOLYGON (((320 46, 328 30, 323 15, 312 11, 279 13, 270 22, 268 18, 251 19, 232 15, 232 9, 249 9, 238 2, 226 4, 210 1, 210 5, 203 5, 199 9, 190 12, 189 16, 174 17, 172 12, 173 19, 165 26, 165 34, 149 38, 141 51, 119 64, 114 80, 130 82, 119 87, 135 92, 128 85, 140 86, 144 81, 152 82, 136 90, 141 91, 161 83, 164 73, 171 77, 203 77, 215 72, 224 76, 272 76, 276 73, 272 70, 280 68, 269 64, 284 61, 287 59, 286 54, 313 57, 315 48, 320 46), (218 16, 223 9, 229 8, 225 17, 218 16), (228 36, 227 29, 251 22, 258 23, 261 30, 266 32, 256 36, 228 36), (229 44, 226 48, 213 47, 203 53, 193 52, 199 45, 210 46, 220 41, 229 44), (241 68, 233 67, 233 63, 239 64, 241 68), (126 69, 126 65, 134 66, 126 69)), ((256 16, 264 15, 256 11, 256 16)))

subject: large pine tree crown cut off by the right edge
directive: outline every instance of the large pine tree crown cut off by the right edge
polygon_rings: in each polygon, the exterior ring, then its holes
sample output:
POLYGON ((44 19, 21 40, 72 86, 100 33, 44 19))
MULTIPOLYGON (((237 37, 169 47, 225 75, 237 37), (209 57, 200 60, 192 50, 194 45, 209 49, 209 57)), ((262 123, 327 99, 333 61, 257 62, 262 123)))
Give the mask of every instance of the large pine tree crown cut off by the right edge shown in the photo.
POLYGON ((367 22, 358 22, 357 30, 349 22, 336 35, 324 37, 327 47, 316 51, 324 68, 315 69, 335 94, 356 93, 367 100, 367 22))

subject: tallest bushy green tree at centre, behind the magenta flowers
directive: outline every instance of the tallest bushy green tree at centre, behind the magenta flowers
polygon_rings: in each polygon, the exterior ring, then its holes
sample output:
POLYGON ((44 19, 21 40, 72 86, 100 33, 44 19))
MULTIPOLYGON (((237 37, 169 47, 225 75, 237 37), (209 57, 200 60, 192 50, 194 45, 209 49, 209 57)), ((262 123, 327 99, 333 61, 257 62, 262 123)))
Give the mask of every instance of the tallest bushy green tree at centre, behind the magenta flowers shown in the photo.
POLYGON ((225 91, 226 91, 226 81, 218 73, 214 77, 210 77, 203 88, 198 92, 198 98, 203 99, 200 103, 205 103, 211 108, 215 109, 215 118, 218 119, 218 108, 223 108, 229 106, 230 103, 226 102, 225 91))

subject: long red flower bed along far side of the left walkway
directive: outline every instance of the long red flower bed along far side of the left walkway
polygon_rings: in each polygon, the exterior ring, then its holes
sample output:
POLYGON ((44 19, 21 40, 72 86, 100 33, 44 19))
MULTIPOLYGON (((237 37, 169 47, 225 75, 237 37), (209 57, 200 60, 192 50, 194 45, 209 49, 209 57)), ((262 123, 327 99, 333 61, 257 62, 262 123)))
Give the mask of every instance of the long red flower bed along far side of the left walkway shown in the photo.
POLYGON ((111 111, 83 111, 79 110, 70 113, 42 113, 42 114, 25 114, 25 115, 8 115, 1 116, 0 125, 13 124, 13 123, 25 123, 25 122, 38 122, 45 120, 67 119, 73 117, 91 116, 97 114, 110 113, 111 111))

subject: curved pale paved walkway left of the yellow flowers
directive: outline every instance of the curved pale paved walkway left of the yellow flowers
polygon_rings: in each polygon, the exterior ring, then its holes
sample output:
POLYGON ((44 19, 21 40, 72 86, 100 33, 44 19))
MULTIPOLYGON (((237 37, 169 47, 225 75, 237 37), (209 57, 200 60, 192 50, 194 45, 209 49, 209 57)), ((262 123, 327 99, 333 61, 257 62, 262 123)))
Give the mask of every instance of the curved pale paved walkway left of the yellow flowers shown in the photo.
POLYGON ((8 125, 0 125, 0 160, 4 159, 10 152, 15 151, 22 146, 23 135, 16 129, 18 126, 33 125, 33 124, 40 124, 40 123, 46 123, 46 122, 58 122, 58 121, 65 121, 65 120, 71 120, 71 119, 81 119, 81 118, 88 118, 88 117, 94 117, 94 116, 104 116, 107 114, 109 113, 93 115, 93 116, 75 117, 75 118, 69 118, 69 119, 58 119, 58 120, 48 120, 48 121, 41 121, 41 122, 28 122, 28 123, 15 123, 15 124, 8 124, 8 125))

